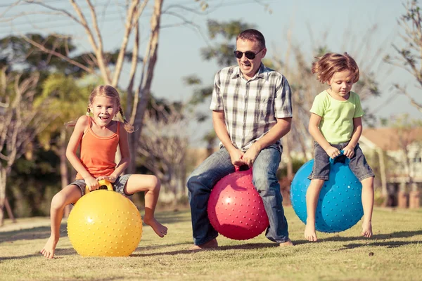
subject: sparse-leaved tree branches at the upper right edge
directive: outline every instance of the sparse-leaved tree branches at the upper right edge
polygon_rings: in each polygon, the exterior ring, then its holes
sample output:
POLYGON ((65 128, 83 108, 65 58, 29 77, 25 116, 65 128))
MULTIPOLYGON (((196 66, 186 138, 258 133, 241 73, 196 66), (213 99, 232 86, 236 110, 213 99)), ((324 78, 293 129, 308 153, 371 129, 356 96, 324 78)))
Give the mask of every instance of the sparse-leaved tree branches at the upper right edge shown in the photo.
MULTIPOLYGON (((418 88, 422 86, 422 18, 421 18, 421 7, 418 5, 418 1, 412 0, 404 5, 406 12, 398 20, 397 24, 402 27, 404 34, 400 37, 403 39, 404 46, 399 47, 395 44, 392 47, 397 52, 396 55, 385 56, 385 61, 392 65, 403 68, 416 79, 418 88)), ((414 105, 420 112, 422 112, 422 103, 418 102, 413 98, 407 88, 400 84, 393 84, 395 89, 399 93, 404 94, 409 98, 411 105, 414 105)))

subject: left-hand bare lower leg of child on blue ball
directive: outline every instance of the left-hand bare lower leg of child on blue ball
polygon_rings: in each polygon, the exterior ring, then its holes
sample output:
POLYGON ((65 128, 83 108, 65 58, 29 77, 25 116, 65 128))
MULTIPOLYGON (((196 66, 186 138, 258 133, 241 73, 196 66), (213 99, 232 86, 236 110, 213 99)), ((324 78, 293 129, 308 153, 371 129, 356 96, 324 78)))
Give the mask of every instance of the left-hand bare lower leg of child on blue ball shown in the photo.
POLYGON ((307 219, 305 227, 305 238, 311 242, 318 240, 315 232, 315 211, 316 205, 318 204, 319 192, 321 192, 323 185, 324 180, 312 179, 306 192, 307 219))

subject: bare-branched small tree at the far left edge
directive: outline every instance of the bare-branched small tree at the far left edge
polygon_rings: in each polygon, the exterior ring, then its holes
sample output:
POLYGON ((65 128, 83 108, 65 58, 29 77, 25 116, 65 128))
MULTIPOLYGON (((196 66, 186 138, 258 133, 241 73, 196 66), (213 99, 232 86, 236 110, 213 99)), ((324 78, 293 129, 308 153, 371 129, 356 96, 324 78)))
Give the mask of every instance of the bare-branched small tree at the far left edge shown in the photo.
MULTIPOLYGON (((22 74, 0 70, 0 226, 4 223, 6 183, 11 166, 26 151, 26 146, 48 125, 39 114, 48 100, 34 106, 34 89, 39 74, 22 74)), ((54 119, 55 114, 50 116, 54 119)))

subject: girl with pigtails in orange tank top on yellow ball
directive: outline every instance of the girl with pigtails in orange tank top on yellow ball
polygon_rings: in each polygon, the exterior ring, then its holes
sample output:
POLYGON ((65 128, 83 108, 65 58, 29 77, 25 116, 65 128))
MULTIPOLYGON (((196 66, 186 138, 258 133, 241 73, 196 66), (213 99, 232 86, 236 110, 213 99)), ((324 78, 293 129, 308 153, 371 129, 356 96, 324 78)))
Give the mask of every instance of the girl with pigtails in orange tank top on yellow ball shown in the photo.
POLYGON ((127 132, 134 131, 123 115, 120 107, 119 93, 112 86, 98 86, 89 96, 87 115, 80 117, 75 130, 70 136, 66 156, 76 169, 76 181, 60 190, 51 200, 51 235, 41 254, 52 259, 60 237, 60 222, 65 206, 76 203, 89 190, 100 188, 98 181, 105 179, 112 183, 116 192, 124 196, 135 192, 145 192, 145 215, 143 221, 151 226, 158 236, 164 237, 167 228, 155 220, 154 211, 160 192, 160 181, 150 175, 123 175, 130 162, 127 132), (120 112, 124 123, 114 121, 113 117, 120 112), (92 117, 89 116, 90 113, 92 117), (77 148, 80 145, 80 159, 77 148), (115 164, 117 145, 120 147, 122 159, 115 164))

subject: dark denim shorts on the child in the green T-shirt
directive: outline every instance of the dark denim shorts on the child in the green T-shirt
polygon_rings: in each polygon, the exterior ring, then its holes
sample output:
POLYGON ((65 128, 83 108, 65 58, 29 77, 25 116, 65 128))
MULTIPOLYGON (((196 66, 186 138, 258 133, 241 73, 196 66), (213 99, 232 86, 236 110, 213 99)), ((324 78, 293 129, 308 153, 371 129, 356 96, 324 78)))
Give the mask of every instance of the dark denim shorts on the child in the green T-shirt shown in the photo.
MULTIPOLYGON (((347 143, 339 143, 339 144, 331 144, 334 148, 338 150, 343 150, 347 146, 347 143)), ((334 159, 335 162, 344 162, 345 156, 340 155, 334 159)), ((359 143, 354 148, 354 155, 350 158, 349 168, 353 172, 354 176, 356 176, 359 181, 363 181, 365 178, 371 178, 375 175, 371 167, 369 166, 368 162, 366 162, 366 158, 362 150, 359 148, 359 143)), ((327 155, 325 150, 321 148, 319 143, 314 141, 314 167, 312 169, 312 173, 308 176, 310 180, 312 179, 320 179, 324 181, 328 181, 330 176, 330 157, 327 155)))

